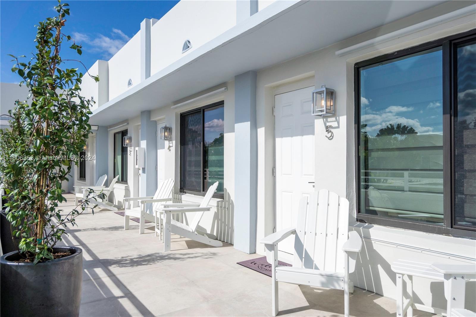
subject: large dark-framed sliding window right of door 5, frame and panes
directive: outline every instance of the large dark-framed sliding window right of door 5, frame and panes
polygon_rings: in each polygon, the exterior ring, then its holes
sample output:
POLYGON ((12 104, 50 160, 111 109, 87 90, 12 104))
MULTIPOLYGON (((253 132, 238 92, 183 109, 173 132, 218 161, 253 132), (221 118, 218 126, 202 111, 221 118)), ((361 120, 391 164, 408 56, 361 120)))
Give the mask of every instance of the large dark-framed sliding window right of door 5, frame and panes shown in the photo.
POLYGON ((474 31, 359 62, 355 75, 357 219, 475 236, 474 31))

